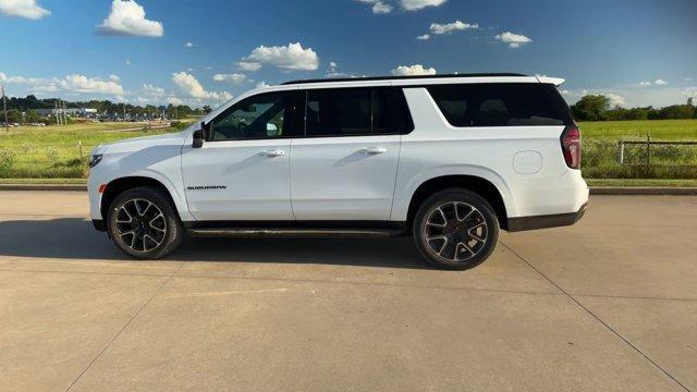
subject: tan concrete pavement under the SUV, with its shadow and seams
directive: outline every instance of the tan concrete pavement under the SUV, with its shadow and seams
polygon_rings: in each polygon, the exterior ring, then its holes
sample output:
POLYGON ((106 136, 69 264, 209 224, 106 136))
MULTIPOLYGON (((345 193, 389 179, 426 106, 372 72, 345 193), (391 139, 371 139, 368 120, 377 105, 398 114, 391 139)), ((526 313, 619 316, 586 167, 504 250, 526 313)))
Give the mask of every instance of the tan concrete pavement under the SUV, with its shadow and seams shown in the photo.
POLYGON ((134 261, 85 217, 0 192, 2 391, 697 390, 697 197, 595 196, 466 272, 407 238, 134 261))

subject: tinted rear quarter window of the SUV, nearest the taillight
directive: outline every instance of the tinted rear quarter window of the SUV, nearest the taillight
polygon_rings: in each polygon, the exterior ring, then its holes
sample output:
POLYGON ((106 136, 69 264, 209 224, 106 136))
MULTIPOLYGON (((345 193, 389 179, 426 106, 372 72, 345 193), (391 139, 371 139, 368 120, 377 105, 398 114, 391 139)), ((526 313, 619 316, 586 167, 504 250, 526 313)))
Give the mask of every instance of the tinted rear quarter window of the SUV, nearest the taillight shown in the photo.
POLYGON ((453 126, 571 125, 557 88, 541 83, 437 85, 428 91, 453 126))

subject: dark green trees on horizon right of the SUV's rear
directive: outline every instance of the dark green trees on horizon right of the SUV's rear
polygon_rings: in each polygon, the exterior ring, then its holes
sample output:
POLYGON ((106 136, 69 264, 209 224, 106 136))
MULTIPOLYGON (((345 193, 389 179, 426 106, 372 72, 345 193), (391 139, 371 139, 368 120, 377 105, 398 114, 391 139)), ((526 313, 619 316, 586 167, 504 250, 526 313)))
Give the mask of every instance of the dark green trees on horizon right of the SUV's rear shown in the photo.
POLYGON ((571 106, 577 121, 623 121, 623 120, 675 120, 697 119, 694 99, 685 105, 672 105, 664 108, 611 108, 610 98, 604 95, 587 95, 571 106))

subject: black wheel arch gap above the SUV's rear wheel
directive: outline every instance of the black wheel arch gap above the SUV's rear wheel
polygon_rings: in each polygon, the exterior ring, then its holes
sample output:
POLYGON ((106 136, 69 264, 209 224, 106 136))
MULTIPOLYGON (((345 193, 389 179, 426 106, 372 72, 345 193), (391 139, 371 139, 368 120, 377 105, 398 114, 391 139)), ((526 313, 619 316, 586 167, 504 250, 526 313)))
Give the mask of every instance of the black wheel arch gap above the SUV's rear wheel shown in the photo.
POLYGON ((501 229, 508 230, 509 211, 499 187, 487 179, 469 174, 440 175, 423 182, 412 194, 406 213, 407 228, 412 226, 416 211, 430 195, 449 188, 463 188, 484 197, 493 208, 501 229))

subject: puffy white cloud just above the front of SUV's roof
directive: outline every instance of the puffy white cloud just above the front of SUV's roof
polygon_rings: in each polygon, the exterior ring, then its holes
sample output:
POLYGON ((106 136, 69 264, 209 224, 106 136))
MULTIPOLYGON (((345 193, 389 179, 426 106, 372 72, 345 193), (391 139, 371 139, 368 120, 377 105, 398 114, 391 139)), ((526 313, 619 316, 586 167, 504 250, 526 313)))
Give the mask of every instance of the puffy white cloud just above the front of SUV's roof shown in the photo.
POLYGON ((299 42, 288 46, 259 46, 243 60, 243 62, 276 65, 285 71, 315 71, 319 66, 317 53, 311 48, 303 49, 299 42))

